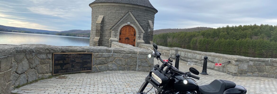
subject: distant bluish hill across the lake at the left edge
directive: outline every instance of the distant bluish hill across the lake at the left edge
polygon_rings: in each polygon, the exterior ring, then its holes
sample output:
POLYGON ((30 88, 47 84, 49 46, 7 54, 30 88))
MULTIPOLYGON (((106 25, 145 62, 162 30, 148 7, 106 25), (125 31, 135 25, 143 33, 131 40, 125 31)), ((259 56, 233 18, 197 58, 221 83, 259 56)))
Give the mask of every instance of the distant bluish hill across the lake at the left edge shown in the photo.
POLYGON ((30 31, 30 32, 41 32, 41 33, 51 33, 51 32, 58 32, 58 31, 48 31, 48 30, 39 30, 39 29, 29 29, 29 28, 21 28, 21 27, 11 27, 11 26, 3 26, 0 25, 0 28, 7 29, 7 30, 17 30, 17 31, 30 31))

